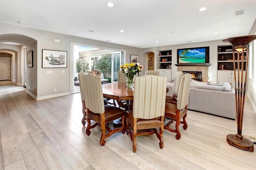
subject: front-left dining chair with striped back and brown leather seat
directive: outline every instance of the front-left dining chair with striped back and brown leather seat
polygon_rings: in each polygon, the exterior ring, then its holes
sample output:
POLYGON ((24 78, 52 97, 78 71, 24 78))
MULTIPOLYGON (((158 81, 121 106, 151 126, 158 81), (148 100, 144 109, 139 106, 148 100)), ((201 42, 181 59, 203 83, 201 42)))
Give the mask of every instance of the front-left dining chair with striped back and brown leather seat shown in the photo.
POLYGON ((100 144, 104 146, 106 142, 105 138, 111 136, 115 132, 125 132, 124 119, 126 112, 118 107, 104 105, 100 76, 87 74, 81 75, 81 79, 84 82, 84 90, 82 92, 86 106, 86 121, 88 123, 86 127, 86 134, 90 135, 90 129, 99 125, 102 130, 100 144), (119 118, 122 118, 122 127, 110 129, 108 126, 106 126, 106 124, 119 118), (91 120, 96 123, 91 125, 91 120), (107 134, 106 130, 108 131, 107 134))

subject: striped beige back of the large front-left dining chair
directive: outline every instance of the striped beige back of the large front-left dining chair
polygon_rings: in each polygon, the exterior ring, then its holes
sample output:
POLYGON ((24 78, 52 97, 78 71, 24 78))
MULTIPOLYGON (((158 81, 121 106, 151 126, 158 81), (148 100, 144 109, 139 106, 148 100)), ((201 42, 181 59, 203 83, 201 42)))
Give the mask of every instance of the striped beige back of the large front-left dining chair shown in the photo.
POLYGON ((100 76, 93 74, 81 75, 82 91, 86 108, 93 113, 104 113, 104 100, 100 76))

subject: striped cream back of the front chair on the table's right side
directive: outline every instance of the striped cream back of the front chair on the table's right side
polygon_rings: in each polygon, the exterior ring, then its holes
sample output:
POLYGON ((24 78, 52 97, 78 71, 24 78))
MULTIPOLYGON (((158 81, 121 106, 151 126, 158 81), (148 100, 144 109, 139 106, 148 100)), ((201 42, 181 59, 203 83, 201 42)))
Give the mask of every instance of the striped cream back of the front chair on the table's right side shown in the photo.
POLYGON ((182 110, 188 105, 188 97, 190 92, 191 74, 186 73, 182 76, 177 98, 177 109, 182 110))

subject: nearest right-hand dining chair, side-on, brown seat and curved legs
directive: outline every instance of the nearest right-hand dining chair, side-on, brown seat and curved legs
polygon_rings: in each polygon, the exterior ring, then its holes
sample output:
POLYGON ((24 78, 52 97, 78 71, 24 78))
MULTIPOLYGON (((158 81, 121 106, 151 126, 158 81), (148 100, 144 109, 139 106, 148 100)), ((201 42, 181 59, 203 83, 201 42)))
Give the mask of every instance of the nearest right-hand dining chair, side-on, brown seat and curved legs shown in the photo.
POLYGON ((165 126, 164 129, 170 132, 176 132, 176 139, 179 140, 181 133, 179 130, 180 123, 183 124, 183 129, 188 128, 188 123, 186 122, 187 107, 188 107, 188 97, 190 92, 191 74, 186 73, 182 76, 180 87, 178 90, 177 104, 166 103, 164 117, 166 119, 171 119, 165 126), (181 121, 182 119, 182 121, 181 121), (170 128, 170 125, 176 121, 175 129, 170 128))

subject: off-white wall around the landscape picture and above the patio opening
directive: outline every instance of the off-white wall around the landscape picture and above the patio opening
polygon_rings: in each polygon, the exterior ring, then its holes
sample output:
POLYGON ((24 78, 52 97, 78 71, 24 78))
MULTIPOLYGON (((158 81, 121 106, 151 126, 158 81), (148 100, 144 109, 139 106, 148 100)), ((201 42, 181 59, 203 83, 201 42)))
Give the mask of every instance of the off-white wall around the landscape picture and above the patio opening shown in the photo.
MULTIPOLYGON (((15 25, 10 25, 5 23, 1 23, 0 26, 1 26, 0 35, 20 34, 20 35, 33 38, 37 41, 37 51, 36 49, 33 49, 34 61, 37 61, 37 62, 34 62, 35 68, 37 68, 36 69, 37 75, 32 75, 31 77, 29 77, 29 79, 37 79, 37 85, 36 85, 37 93, 34 91, 31 91, 37 97, 45 97, 45 96, 48 97, 50 95, 71 93, 70 81, 72 80, 70 77, 70 71, 71 71, 70 55, 72 55, 72 52, 70 51, 71 49, 70 43, 79 43, 79 44, 87 44, 87 45, 126 50, 126 62, 130 61, 131 54, 139 55, 139 57, 142 56, 142 53, 141 53, 142 49, 136 48, 136 47, 129 47, 129 46, 119 45, 114 43, 100 42, 96 40, 79 38, 75 36, 68 36, 64 34, 36 30, 32 28, 15 26, 15 25), (59 39, 60 43, 53 42, 53 39, 59 39), (67 68, 51 68, 51 69, 42 68, 42 49, 68 51, 67 68), (51 70, 52 74, 46 74, 47 70, 51 70), (62 70, 64 70, 65 73, 62 73, 62 70), (54 92, 55 88, 57 89, 56 92, 54 92)), ((28 51, 30 50, 27 49, 27 52, 28 51)), ((139 61, 140 61, 140 58, 139 58, 139 61)), ((140 61, 140 62, 143 65, 143 61, 140 61)), ((32 80, 30 80, 30 82, 31 81, 32 80)))

